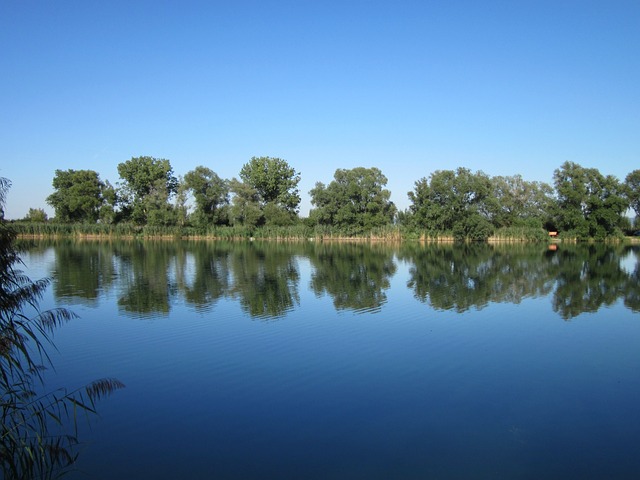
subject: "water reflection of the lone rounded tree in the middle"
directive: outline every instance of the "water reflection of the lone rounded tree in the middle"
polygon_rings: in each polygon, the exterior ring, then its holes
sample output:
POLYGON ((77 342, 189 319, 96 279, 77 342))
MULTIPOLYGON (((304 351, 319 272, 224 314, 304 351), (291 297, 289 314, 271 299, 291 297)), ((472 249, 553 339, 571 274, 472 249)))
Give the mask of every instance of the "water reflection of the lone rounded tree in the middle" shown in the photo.
POLYGON ((360 243, 317 244, 309 249, 311 288, 327 293, 336 309, 378 310, 396 272, 393 250, 360 243))

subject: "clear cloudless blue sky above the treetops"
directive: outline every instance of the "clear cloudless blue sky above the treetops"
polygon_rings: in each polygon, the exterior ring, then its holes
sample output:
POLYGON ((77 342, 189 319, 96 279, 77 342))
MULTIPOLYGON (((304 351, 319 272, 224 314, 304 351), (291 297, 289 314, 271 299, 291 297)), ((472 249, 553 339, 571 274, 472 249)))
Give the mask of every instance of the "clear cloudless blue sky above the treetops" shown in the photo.
POLYGON ((238 177, 286 160, 309 190, 377 167, 552 183, 640 168, 640 1, 0 0, 5 215, 53 210, 56 169, 169 159, 238 177))

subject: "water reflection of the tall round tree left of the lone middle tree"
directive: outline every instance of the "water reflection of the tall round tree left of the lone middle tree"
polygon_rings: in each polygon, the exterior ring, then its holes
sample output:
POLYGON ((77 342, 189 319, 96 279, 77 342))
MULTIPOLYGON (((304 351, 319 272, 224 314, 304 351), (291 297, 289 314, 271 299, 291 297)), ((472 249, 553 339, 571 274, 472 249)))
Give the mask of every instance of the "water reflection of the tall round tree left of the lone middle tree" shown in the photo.
POLYGON ((300 273, 295 260, 300 245, 253 242, 234 248, 229 295, 252 317, 281 317, 299 305, 300 273))

